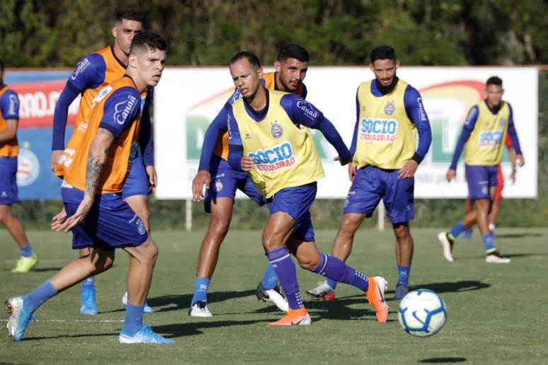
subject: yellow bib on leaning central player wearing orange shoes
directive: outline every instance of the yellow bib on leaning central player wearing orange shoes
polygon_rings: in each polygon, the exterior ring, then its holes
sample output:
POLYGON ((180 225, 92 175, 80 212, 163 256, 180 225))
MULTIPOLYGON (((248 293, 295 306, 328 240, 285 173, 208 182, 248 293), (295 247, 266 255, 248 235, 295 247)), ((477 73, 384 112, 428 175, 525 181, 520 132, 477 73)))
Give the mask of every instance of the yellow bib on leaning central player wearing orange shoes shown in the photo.
POLYGON ((306 185, 324 177, 308 127, 297 127, 280 105, 285 94, 268 91, 268 112, 260 122, 249 116, 244 98, 232 105, 244 156, 253 157, 255 163, 249 175, 267 198, 285 187, 306 185))

